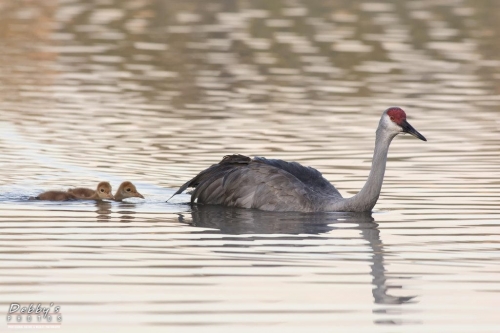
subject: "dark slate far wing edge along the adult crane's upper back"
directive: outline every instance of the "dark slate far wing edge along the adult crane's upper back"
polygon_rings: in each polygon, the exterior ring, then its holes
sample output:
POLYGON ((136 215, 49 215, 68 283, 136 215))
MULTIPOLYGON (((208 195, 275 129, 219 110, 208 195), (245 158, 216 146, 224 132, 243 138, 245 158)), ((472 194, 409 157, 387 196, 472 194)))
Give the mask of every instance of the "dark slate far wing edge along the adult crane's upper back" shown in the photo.
POLYGON ((342 198, 342 195, 335 188, 335 186, 326 180, 321 172, 314 168, 305 167, 297 162, 286 162, 283 160, 267 159, 264 157, 255 157, 253 160, 285 170, 286 172, 297 177, 297 179, 313 191, 342 198))

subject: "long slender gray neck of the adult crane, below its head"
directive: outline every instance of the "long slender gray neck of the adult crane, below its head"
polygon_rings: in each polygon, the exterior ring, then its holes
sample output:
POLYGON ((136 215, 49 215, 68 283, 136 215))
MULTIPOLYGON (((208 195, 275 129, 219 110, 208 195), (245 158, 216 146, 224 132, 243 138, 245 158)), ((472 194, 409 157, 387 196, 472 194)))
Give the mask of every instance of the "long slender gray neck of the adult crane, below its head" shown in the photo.
POLYGON ((332 203, 332 210, 348 212, 368 212, 372 210, 377 203, 382 189, 387 153, 391 141, 395 136, 396 134, 389 134, 381 129, 381 127, 377 129, 372 168, 365 186, 352 198, 332 203))

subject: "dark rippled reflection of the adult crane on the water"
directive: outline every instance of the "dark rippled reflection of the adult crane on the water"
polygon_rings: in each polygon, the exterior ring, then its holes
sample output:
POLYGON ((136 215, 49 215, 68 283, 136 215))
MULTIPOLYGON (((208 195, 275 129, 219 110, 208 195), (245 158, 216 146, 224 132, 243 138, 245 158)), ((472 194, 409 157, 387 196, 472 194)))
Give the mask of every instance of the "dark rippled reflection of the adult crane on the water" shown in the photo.
MULTIPOLYGON (((252 209, 195 205, 189 213, 179 215, 180 222, 195 227, 218 229, 222 234, 293 234, 309 235, 334 233, 337 229, 359 230, 371 249, 372 293, 377 304, 404 304, 415 296, 388 294, 384 267, 384 244, 380 239, 378 224, 371 213, 276 213, 252 209), (191 217, 191 218, 190 218, 191 217), (352 227, 345 227, 350 223, 352 227)), ((213 233, 213 231, 210 231, 213 233)), ((296 238, 295 238, 296 239, 296 238)), ((300 240, 300 238, 298 239, 300 240)), ((310 244, 310 243, 309 243, 310 244)), ((402 286, 392 286, 402 288, 402 286)))

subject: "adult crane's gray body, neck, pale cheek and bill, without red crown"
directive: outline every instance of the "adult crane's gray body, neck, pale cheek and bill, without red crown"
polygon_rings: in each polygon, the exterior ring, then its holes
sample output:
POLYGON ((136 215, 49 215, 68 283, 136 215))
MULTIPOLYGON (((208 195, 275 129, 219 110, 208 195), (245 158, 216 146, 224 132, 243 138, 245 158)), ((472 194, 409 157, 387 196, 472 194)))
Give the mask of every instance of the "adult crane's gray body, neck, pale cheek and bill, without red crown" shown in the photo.
POLYGON ((343 198, 319 171, 311 167, 263 157, 251 159, 243 155, 225 156, 218 164, 181 186, 175 194, 192 187, 192 203, 267 211, 371 211, 382 189, 389 146, 392 139, 403 131, 389 120, 386 113, 382 115, 376 132, 368 180, 361 191, 351 198, 343 198))

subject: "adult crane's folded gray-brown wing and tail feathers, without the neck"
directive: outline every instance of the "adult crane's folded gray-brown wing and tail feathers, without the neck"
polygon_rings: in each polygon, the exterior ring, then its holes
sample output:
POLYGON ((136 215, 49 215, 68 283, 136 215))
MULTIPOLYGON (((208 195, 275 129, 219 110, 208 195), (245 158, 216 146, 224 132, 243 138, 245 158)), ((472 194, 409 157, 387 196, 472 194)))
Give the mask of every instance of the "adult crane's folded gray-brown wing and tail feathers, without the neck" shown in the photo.
POLYGON ((340 197, 333 186, 330 185, 334 191, 331 188, 315 191, 309 188, 311 182, 305 184, 288 171, 298 174, 302 168, 308 172, 303 179, 319 175, 327 182, 321 173, 312 168, 298 163, 283 164, 280 168, 265 161, 268 160, 250 160, 242 155, 226 156, 219 164, 212 165, 181 186, 176 194, 194 187, 191 202, 270 211, 314 211, 325 198, 327 190, 340 197))

